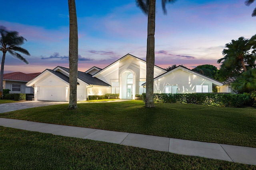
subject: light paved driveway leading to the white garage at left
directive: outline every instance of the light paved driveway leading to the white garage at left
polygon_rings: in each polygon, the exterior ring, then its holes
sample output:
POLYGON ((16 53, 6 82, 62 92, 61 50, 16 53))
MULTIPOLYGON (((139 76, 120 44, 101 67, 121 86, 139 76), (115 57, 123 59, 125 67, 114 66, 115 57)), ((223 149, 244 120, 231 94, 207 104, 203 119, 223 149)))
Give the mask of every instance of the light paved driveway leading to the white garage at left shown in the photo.
POLYGON ((60 105, 68 103, 66 101, 24 101, 17 103, 3 103, 0 104, 0 113, 17 111, 21 109, 28 109, 32 107, 48 106, 48 105, 60 105))

